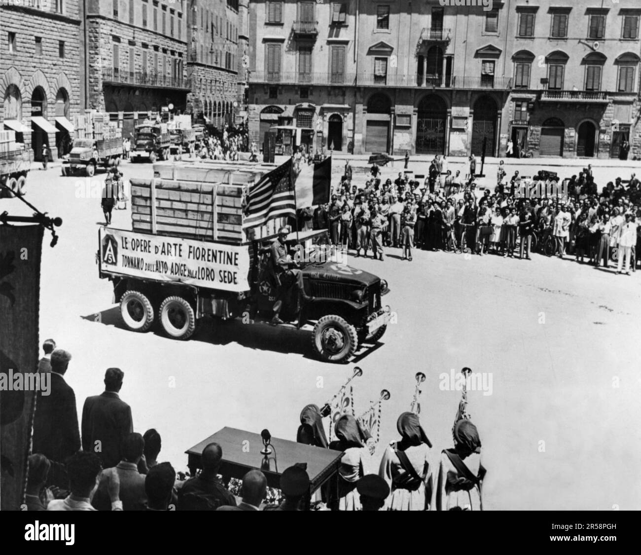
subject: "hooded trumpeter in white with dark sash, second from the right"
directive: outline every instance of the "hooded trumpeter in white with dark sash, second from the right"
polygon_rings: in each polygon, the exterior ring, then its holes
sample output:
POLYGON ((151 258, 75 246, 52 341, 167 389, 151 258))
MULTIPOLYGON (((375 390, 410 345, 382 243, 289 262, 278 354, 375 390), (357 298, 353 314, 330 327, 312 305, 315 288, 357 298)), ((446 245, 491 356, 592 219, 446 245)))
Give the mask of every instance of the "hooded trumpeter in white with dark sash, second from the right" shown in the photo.
POLYGON ((401 440, 385 448, 379 468, 379 475, 392 491, 386 500, 387 509, 429 511, 435 470, 429 451, 432 444, 420 426, 417 414, 401 414, 396 429, 401 440))

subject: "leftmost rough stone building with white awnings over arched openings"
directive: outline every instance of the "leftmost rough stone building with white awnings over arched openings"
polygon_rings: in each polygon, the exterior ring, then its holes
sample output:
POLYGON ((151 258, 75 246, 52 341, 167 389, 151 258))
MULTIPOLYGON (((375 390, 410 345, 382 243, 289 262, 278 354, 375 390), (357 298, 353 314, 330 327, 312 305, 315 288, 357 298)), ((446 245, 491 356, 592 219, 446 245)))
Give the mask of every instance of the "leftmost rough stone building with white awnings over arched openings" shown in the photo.
POLYGON ((56 158, 85 102, 80 3, 1 3, 0 26, 0 129, 16 131, 35 160, 45 142, 56 158))

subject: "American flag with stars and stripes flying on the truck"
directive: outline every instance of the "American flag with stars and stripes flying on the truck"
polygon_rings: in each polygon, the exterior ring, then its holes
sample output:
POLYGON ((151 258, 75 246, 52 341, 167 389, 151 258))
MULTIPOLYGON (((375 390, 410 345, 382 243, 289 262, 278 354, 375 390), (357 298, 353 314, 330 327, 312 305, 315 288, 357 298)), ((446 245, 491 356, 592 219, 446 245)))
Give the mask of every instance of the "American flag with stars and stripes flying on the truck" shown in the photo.
POLYGON ((272 218, 296 216, 291 158, 251 186, 244 211, 244 228, 264 225, 272 218))

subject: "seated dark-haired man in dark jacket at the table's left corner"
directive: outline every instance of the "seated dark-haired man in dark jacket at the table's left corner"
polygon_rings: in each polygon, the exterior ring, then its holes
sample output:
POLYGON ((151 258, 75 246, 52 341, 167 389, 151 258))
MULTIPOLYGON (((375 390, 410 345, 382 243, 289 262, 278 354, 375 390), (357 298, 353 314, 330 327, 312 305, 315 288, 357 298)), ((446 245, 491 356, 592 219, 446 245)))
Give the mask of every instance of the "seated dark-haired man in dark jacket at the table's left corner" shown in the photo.
POLYGON ((209 443, 203 449, 203 470, 188 479, 178 490, 179 511, 215 511, 222 505, 236 505, 236 498, 218 479, 221 468, 222 447, 209 443))

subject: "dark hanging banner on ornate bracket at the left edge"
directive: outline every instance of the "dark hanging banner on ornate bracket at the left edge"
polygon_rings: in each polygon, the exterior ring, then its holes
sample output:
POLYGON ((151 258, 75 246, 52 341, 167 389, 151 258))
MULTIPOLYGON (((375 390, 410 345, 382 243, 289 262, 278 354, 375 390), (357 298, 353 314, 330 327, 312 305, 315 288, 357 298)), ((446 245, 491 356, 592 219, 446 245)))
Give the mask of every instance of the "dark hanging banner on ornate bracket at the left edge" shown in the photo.
MULTIPOLYGON (((43 229, 0 225, 0 372, 38 366, 40 255, 43 229)), ((0 391, 1 510, 24 503, 35 391, 0 391)))

